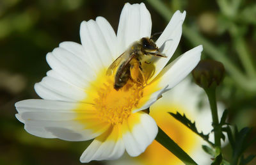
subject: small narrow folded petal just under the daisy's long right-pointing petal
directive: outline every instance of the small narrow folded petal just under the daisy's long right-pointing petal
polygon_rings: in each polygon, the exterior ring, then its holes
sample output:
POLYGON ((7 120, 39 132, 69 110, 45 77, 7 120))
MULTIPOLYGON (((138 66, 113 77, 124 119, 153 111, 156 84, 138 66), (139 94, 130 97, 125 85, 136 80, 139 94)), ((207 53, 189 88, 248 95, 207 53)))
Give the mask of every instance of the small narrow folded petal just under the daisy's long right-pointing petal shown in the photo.
POLYGON ((161 97, 162 93, 164 93, 164 91, 166 91, 167 88, 168 88, 168 85, 161 90, 158 90, 154 93, 150 93, 150 95, 147 95, 147 96, 144 96, 143 98, 141 98, 141 100, 138 104, 138 107, 136 109, 134 109, 132 111, 132 113, 136 113, 138 111, 143 111, 143 110, 147 109, 148 107, 150 107, 152 104, 154 104, 154 102, 156 102, 156 100, 158 98, 161 97))

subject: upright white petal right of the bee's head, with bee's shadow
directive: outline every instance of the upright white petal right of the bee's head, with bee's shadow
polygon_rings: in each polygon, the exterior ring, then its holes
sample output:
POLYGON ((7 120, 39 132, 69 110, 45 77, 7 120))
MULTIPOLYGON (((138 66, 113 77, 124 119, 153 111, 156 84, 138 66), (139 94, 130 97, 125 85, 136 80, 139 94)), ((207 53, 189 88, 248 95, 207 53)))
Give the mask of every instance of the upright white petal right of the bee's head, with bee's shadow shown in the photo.
POLYGON ((161 70, 164 68, 166 63, 168 63, 173 53, 177 49, 177 46, 180 42, 180 37, 182 34, 182 24, 185 17, 186 12, 180 13, 179 10, 175 12, 169 24, 164 29, 162 35, 158 38, 156 45, 166 56, 168 56, 168 58, 152 57, 152 60, 155 61, 154 63, 156 66, 156 73, 154 74, 152 79, 154 79, 154 77, 156 77, 156 75, 161 72, 161 70))

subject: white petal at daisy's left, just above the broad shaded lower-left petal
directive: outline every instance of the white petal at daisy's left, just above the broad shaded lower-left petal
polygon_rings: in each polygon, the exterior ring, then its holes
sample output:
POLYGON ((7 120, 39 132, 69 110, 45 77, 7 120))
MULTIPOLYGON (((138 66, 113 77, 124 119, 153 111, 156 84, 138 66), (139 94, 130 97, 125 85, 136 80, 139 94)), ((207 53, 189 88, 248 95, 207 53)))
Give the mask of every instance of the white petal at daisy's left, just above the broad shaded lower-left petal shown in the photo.
POLYGON ((41 98, 48 100, 79 102, 86 97, 81 88, 49 76, 44 77, 40 83, 35 84, 35 91, 41 98))

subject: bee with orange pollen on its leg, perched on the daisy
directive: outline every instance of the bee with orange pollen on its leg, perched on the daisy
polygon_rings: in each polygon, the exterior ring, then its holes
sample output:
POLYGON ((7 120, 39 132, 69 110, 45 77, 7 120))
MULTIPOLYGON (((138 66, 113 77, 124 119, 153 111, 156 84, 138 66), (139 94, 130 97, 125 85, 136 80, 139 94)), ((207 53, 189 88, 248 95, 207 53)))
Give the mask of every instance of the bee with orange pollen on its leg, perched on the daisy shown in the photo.
MULTIPOLYGON (((141 74, 143 77, 143 82, 147 84, 145 79, 145 74, 141 65, 141 61, 145 59, 146 56, 158 56, 166 58, 159 48, 156 46, 156 43, 152 40, 152 37, 143 37, 140 40, 133 42, 129 48, 123 52, 108 68, 106 75, 112 75, 115 68, 115 83, 114 88, 118 91, 122 88, 129 79, 136 83, 141 83, 138 81, 138 77, 141 74)), ((147 63, 145 61, 145 63, 147 63)))

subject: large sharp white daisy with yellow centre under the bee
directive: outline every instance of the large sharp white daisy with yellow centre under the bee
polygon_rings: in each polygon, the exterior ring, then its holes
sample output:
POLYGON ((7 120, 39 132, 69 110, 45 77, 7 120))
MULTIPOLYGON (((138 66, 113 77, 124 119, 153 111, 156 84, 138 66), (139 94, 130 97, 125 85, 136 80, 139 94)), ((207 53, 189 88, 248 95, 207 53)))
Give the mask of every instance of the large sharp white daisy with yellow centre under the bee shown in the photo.
POLYGON ((164 67, 180 41, 185 16, 186 12, 175 12, 156 41, 167 58, 150 59, 155 71, 147 84, 141 86, 129 79, 120 90, 115 90, 113 76, 106 75, 106 70, 131 43, 150 38, 150 13, 143 3, 126 3, 117 35, 103 17, 83 21, 82 44, 62 42, 47 54, 52 70, 35 84, 43 99, 17 102, 17 119, 30 134, 42 138, 94 139, 81 155, 81 162, 118 159, 125 150, 132 157, 140 155, 157 134, 156 122, 142 110, 184 79, 200 61, 202 45, 164 67))

